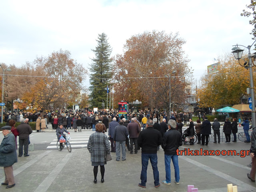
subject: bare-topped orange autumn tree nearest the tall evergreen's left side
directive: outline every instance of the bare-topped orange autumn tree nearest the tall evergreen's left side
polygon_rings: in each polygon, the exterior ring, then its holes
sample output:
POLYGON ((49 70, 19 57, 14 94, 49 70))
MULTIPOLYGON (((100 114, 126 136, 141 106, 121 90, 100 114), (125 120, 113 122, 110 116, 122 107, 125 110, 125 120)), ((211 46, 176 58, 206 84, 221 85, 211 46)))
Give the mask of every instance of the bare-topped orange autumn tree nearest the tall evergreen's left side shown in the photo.
MULTIPOLYGON (((42 110, 49 110, 50 107, 64 108, 65 103, 73 105, 80 101, 83 90, 82 80, 85 79, 87 70, 71 58, 68 50, 60 49, 52 52, 48 57, 37 57, 34 64, 49 76, 43 82, 45 85, 41 83, 46 90, 35 89, 39 91, 39 95, 42 91, 47 94, 44 96, 46 101, 37 101, 41 104, 42 110)), ((36 98, 42 98, 42 96, 36 98)))

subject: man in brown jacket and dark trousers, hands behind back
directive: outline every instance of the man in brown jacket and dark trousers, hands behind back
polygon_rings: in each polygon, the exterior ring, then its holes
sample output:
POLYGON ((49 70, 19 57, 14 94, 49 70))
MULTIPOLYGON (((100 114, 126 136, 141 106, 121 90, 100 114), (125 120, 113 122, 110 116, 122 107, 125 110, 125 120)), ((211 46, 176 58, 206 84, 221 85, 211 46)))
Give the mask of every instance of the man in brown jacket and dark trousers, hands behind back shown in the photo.
POLYGON ((131 122, 128 124, 127 129, 129 132, 129 138, 130 138, 130 154, 133 154, 133 143, 135 145, 135 154, 138 152, 138 133, 140 132, 139 125, 135 122, 134 118, 131 119, 131 122))

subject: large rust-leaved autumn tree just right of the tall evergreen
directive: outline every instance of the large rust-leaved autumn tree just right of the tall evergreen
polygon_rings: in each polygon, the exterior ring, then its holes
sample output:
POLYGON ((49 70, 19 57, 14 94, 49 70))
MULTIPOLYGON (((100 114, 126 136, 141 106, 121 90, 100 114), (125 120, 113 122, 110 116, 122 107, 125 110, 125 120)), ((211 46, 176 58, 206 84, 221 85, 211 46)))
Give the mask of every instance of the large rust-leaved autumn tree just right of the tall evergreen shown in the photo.
POLYGON ((185 102, 185 87, 192 80, 191 68, 182 46, 185 40, 179 34, 164 31, 144 32, 126 40, 124 54, 115 60, 115 100, 142 101, 148 108, 169 107, 169 78, 171 100, 185 102))

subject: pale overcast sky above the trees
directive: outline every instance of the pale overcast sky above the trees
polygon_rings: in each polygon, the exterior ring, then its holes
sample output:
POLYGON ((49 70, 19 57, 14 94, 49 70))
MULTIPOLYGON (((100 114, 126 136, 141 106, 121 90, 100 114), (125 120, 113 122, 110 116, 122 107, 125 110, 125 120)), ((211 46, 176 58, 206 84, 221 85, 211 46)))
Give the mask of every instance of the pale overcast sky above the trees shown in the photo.
POLYGON ((88 68, 98 34, 107 34, 114 56, 132 35, 164 30, 186 40, 199 79, 232 45, 253 43, 249 18, 240 16, 246 4, 250 0, 1 0, 0 62, 21 66, 62 48, 88 68))

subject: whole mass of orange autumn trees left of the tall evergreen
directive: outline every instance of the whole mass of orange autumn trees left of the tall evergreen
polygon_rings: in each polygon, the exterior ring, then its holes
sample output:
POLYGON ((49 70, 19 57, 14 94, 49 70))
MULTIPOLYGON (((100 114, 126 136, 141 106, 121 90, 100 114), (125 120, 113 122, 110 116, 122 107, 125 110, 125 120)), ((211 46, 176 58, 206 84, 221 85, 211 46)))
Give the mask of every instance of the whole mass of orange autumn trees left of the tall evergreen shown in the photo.
MULTIPOLYGON (((7 67, 7 66, 6 66, 7 67)), ((87 70, 71 58, 68 50, 53 52, 48 57, 37 57, 18 68, 14 65, 5 76, 4 102, 7 111, 13 103, 30 112, 63 108, 81 100, 82 80, 87 70)))

